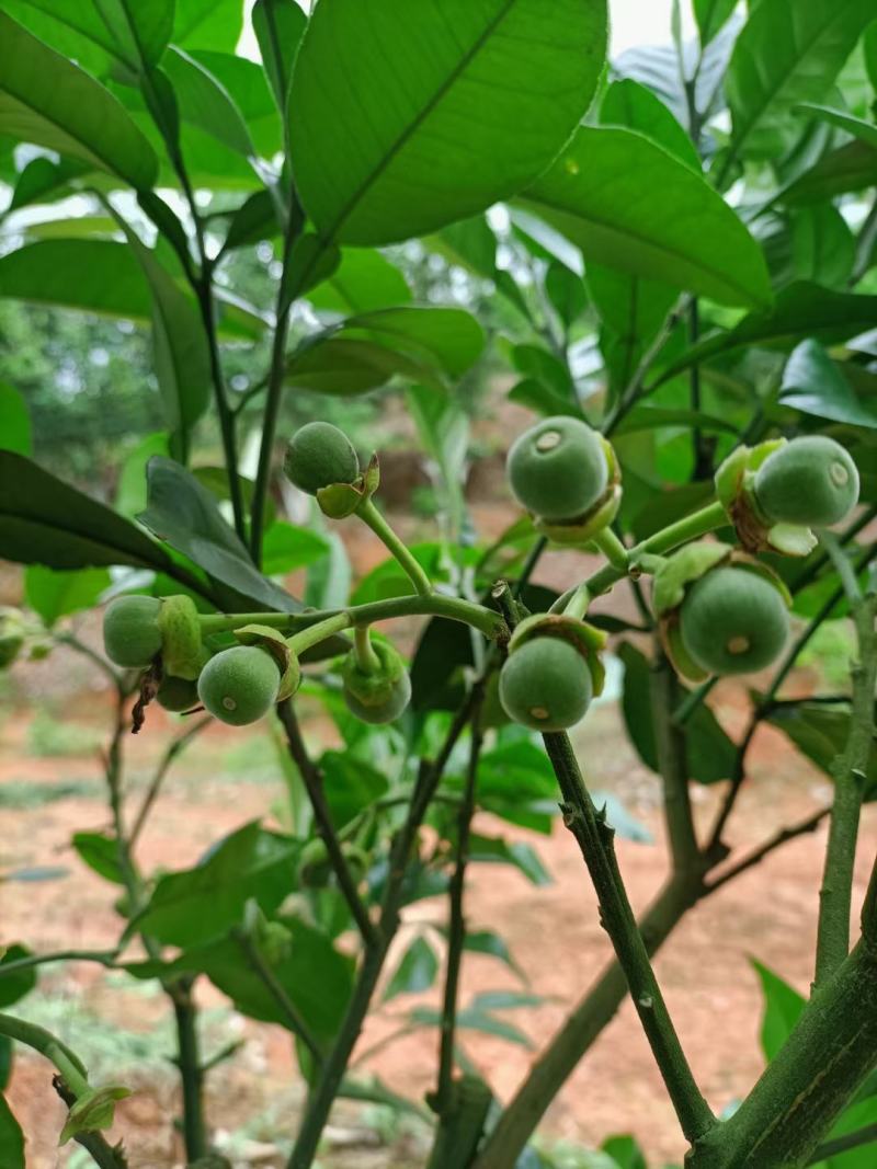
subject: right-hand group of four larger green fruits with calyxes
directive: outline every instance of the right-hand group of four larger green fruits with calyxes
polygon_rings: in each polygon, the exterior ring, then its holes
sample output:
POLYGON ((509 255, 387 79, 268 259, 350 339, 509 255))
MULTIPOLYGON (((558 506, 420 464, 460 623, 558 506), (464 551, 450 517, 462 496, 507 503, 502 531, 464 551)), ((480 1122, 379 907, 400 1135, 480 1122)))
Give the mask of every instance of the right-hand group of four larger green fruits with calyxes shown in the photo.
MULTIPOLYGON (((509 454, 512 491, 537 527, 552 535, 566 527, 579 542, 599 537, 610 523, 606 492, 616 471, 602 436, 573 417, 539 422, 509 454)), ((662 560, 655 576, 652 608, 681 675, 702 680, 748 673, 779 657, 788 638, 790 599, 780 579, 750 553, 809 551, 812 542, 801 540, 799 530, 842 520, 858 500, 858 485, 849 454, 822 436, 766 443, 754 451, 740 448, 728 459, 717 487, 746 551, 698 540, 662 560), (783 539, 793 547, 783 548, 783 539)), ((595 692, 594 639, 582 636, 581 621, 544 615, 529 622, 529 636, 512 638, 499 677, 500 701, 524 726, 567 729, 595 692)))

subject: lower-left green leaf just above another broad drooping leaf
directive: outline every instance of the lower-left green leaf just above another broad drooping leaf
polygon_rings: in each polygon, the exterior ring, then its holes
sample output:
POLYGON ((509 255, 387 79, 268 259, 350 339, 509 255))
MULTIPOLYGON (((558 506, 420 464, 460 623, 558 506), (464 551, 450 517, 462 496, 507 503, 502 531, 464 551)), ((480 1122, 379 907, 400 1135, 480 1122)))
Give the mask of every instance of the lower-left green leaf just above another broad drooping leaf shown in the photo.
POLYGON ((272 913, 289 894, 301 845, 244 824, 195 865, 159 877, 137 929, 167 946, 198 946, 237 926, 250 898, 272 913))

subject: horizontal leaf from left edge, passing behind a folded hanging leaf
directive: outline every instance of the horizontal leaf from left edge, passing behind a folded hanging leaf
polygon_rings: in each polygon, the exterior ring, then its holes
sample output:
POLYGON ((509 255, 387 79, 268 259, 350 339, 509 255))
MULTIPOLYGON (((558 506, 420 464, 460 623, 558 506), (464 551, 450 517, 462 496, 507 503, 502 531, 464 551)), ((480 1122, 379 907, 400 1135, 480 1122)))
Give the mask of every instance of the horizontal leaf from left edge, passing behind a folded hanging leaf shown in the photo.
MULTIPOLYGON (((181 295, 181 293, 180 293, 181 295)), ((149 324, 152 295, 133 251, 112 240, 41 240, 0 257, 0 296, 149 324)), ((225 337, 257 340, 265 323, 220 297, 225 337)))

